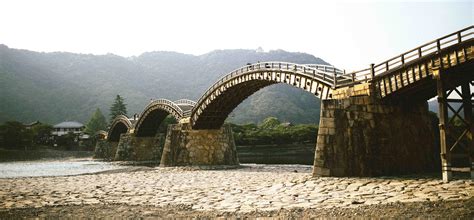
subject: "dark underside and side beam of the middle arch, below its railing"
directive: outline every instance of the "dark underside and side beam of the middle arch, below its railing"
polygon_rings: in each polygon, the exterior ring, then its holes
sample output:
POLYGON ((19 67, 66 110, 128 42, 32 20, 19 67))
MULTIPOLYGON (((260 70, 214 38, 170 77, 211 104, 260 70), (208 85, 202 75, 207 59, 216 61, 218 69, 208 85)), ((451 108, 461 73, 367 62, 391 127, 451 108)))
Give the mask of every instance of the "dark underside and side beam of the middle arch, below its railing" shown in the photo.
POLYGON ((181 113, 168 106, 154 106, 145 110, 135 127, 136 137, 153 137, 158 128, 168 115, 176 120, 181 118, 181 113))

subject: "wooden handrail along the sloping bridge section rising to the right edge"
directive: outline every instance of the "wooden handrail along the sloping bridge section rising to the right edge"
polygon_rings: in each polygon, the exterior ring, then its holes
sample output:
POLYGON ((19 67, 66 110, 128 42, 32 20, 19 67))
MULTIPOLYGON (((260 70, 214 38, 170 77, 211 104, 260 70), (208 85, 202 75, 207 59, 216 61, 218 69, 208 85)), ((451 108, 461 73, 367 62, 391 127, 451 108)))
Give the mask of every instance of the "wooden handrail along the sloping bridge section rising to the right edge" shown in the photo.
POLYGON ((371 64, 368 69, 363 69, 349 73, 353 75, 355 79, 353 83, 350 84, 337 84, 337 87, 344 87, 353 84, 358 84, 361 82, 368 82, 373 80, 378 75, 382 75, 390 70, 397 69, 405 65, 405 63, 420 59, 422 57, 434 54, 439 52, 441 49, 444 49, 449 46, 453 46, 467 40, 474 38, 474 26, 471 25, 454 33, 445 35, 436 40, 425 43, 421 46, 418 46, 414 49, 408 50, 401 55, 392 57, 386 61, 383 61, 379 64, 371 64), (359 80, 357 80, 359 79, 359 80))

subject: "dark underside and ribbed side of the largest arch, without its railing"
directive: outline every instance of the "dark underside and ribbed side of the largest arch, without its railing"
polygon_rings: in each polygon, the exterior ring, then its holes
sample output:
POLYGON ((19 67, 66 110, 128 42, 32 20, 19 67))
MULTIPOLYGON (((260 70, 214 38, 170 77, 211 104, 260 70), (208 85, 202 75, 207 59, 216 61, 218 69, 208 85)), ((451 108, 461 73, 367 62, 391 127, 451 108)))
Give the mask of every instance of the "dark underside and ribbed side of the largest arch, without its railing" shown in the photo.
POLYGON ((319 81, 295 73, 281 71, 255 72, 234 77, 198 103, 191 116, 193 129, 218 129, 227 116, 246 98, 269 85, 285 83, 328 98, 332 89, 319 81))

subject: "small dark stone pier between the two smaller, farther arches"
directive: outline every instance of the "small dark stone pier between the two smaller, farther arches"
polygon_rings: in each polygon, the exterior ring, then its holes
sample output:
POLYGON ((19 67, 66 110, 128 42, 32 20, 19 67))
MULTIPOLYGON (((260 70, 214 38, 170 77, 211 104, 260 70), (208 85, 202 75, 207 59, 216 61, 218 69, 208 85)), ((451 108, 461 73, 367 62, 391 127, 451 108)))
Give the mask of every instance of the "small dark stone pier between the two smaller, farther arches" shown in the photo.
POLYGON ((164 135, 155 137, 135 137, 133 134, 121 134, 115 154, 115 160, 155 161, 161 159, 164 135))

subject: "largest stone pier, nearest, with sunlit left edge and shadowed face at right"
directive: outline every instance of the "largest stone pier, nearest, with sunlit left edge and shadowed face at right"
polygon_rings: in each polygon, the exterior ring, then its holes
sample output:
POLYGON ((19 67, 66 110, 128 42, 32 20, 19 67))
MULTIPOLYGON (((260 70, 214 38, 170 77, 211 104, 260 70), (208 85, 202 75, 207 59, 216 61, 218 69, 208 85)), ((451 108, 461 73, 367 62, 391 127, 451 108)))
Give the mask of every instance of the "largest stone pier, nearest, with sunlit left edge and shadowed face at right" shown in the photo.
POLYGON ((439 147, 432 118, 426 102, 378 103, 369 96, 323 100, 313 176, 435 171, 439 147))

